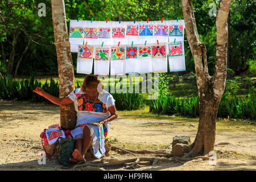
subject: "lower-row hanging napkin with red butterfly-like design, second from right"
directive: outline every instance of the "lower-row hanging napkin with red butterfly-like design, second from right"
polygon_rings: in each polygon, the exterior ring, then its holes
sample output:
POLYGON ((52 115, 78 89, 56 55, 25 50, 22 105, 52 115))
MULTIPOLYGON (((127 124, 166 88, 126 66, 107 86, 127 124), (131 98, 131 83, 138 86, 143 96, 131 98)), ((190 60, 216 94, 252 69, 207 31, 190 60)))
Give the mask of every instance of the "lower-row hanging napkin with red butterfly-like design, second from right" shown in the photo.
POLYGON ((152 46, 152 72, 167 72, 166 50, 166 44, 155 44, 152 46))

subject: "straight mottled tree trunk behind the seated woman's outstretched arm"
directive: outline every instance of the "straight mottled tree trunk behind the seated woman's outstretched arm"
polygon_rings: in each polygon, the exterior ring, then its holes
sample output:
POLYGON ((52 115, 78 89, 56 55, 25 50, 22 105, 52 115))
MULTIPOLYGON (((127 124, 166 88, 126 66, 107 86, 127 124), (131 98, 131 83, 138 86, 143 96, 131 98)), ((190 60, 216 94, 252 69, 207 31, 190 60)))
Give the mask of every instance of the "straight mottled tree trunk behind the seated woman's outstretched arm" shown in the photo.
MULTIPOLYGON (((69 48, 64 0, 52 0, 52 22, 59 72, 59 97, 63 98, 75 90, 75 76, 69 48)), ((66 105, 66 107, 75 111, 74 104, 66 105)), ((73 129, 76 126, 76 114, 69 110, 60 107, 60 126, 65 129, 73 129)))

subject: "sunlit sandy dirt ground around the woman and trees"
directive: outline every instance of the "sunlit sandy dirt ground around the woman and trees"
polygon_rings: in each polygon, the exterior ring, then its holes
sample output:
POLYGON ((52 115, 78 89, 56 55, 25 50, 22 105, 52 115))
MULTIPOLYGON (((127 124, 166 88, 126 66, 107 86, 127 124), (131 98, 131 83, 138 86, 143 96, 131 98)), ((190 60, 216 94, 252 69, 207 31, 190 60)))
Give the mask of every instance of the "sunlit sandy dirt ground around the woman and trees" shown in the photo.
MULTIPOLYGON (((28 101, 0 101, 0 170, 72 170, 63 169, 55 158, 46 160, 46 165, 38 164, 43 152, 41 138, 43 129, 59 123, 59 106, 32 103, 28 101)), ((152 118, 129 119, 119 115, 110 125, 109 137, 114 146, 132 150, 157 150, 168 148, 175 135, 189 135, 192 142, 197 131, 197 122, 177 119, 156 120, 152 118)), ((158 163, 150 166, 139 163, 136 170, 255 170, 256 135, 255 127, 249 131, 216 131, 216 143, 228 141, 230 144, 216 146, 216 166, 208 160, 191 160, 186 163, 158 163)), ((105 158, 129 159, 131 154, 110 151, 105 158)), ((154 157, 138 154, 138 157, 154 157)), ((87 159, 92 160, 92 159, 87 159)), ((98 159, 100 160, 100 159, 98 159)), ((116 170, 122 168, 106 168, 116 170)))

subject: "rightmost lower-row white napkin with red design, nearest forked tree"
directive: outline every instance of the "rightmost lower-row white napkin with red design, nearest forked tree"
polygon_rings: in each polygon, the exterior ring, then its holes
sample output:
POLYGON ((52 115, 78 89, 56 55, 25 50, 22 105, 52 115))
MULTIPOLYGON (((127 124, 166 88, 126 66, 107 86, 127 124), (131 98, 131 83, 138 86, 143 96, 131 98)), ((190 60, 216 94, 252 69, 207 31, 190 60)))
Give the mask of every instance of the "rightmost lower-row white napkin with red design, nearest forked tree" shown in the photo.
POLYGON ((170 72, 185 71, 184 42, 168 43, 170 72))

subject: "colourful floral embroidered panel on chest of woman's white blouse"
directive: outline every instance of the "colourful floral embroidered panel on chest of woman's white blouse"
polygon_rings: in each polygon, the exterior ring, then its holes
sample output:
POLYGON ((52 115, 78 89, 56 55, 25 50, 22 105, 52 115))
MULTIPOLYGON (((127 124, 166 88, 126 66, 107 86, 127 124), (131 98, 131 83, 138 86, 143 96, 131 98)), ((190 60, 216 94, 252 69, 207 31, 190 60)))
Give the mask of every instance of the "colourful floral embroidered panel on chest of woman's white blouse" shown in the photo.
POLYGON ((106 105, 101 101, 91 102, 86 97, 85 94, 76 94, 77 102, 79 104, 78 109, 82 111, 94 111, 99 113, 106 113, 108 109, 106 105))

